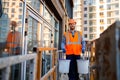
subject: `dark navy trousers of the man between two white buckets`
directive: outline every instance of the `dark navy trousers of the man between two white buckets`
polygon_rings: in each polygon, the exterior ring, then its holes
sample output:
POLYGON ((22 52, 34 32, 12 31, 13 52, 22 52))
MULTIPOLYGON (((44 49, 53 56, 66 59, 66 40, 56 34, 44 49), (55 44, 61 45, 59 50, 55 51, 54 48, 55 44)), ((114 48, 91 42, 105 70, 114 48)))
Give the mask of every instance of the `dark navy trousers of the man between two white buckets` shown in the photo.
POLYGON ((69 69, 69 80, 79 80, 79 74, 77 69, 77 59, 80 59, 80 55, 66 55, 66 59, 70 61, 70 69, 69 69))

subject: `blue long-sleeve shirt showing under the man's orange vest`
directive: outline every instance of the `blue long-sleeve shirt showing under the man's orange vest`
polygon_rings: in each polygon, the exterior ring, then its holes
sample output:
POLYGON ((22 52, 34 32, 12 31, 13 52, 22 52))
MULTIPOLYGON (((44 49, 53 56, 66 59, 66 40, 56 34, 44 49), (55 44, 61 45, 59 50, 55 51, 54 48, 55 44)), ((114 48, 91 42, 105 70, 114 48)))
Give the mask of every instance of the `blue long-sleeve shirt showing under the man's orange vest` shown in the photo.
MULTIPOLYGON (((71 32, 72 33, 72 35, 74 36, 74 31, 73 32, 71 32)), ((82 42, 81 42, 81 44, 82 44, 82 52, 84 53, 85 52, 85 48, 86 48, 86 42, 84 41, 84 39, 82 38, 82 42)), ((61 42, 61 49, 64 51, 65 50, 65 45, 66 45, 66 38, 65 38, 65 36, 63 36, 62 37, 62 42, 61 42)))

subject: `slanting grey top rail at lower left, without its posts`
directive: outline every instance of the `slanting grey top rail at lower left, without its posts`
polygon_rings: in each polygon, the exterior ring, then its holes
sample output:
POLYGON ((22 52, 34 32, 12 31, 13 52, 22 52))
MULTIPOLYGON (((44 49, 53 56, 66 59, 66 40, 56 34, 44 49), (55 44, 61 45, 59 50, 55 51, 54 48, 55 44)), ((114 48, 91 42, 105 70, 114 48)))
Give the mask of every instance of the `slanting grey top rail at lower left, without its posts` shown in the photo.
POLYGON ((26 60, 31 60, 36 58, 36 54, 18 55, 0 58, 0 69, 4 67, 9 67, 13 64, 21 63, 26 60))

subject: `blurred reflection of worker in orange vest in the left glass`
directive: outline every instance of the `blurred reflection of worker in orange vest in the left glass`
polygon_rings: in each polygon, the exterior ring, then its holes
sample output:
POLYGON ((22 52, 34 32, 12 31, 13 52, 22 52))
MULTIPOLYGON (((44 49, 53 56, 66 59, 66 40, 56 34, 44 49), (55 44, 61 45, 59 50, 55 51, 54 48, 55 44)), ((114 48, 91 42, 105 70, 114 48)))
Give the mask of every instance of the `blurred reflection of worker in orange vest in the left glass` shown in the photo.
POLYGON ((16 27, 17 27, 16 21, 11 21, 11 31, 8 32, 7 39, 6 39, 6 50, 8 54, 11 54, 11 55, 20 54, 21 34, 20 32, 15 30, 16 27))

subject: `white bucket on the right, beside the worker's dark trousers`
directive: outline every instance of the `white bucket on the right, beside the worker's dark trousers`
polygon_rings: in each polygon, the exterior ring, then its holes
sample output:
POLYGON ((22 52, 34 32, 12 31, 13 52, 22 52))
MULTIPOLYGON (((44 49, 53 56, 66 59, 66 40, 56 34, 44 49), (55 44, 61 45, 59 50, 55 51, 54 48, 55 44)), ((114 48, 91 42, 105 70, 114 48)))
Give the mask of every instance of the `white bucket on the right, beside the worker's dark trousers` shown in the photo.
POLYGON ((77 67, 79 74, 88 74, 89 60, 77 60, 77 67))

